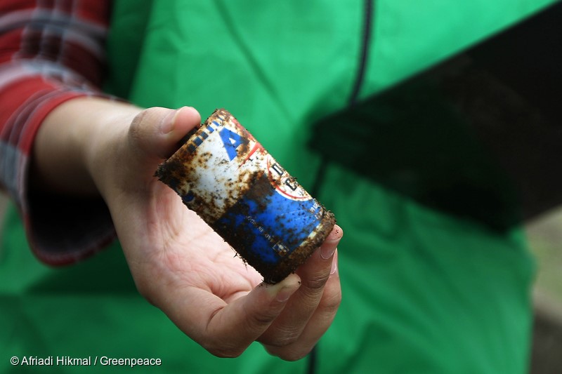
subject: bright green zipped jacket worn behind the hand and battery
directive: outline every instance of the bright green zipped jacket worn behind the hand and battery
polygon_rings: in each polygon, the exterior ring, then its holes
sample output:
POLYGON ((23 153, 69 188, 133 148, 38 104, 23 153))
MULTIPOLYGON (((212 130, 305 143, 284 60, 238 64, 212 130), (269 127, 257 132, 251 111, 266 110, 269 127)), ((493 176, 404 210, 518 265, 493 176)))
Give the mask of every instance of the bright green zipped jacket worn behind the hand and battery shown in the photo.
MULTIPOLYGON (((115 1, 107 91, 146 107, 237 116, 344 228, 343 301, 313 357, 285 362, 255 343, 217 359, 136 293, 118 243, 51 269, 21 249, 11 212, 0 371, 14 369, 10 356, 31 355, 162 359, 136 373, 524 373, 533 267, 522 232, 443 211, 354 167, 378 160, 388 170, 405 149, 370 142, 391 131, 391 114, 370 113, 390 118, 379 128, 349 113, 380 109, 372 95, 550 2, 115 1), (353 121, 338 126, 332 114, 353 121), (355 158, 340 162, 346 154, 355 158)), ((387 177, 408 180, 402 172, 387 177)))

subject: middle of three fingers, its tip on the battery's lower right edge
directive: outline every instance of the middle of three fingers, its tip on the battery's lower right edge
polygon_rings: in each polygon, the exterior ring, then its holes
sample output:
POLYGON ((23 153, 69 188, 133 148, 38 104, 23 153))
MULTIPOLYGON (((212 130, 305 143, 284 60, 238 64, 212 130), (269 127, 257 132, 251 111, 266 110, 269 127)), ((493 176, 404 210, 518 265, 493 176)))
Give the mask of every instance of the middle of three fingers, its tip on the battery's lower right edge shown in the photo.
POLYGON ((343 231, 336 225, 322 246, 297 269, 301 287, 289 300, 285 311, 259 338, 260 342, 282 347, 299 339, 322 300, 332 270, 334 252, 342 236, 343 231))

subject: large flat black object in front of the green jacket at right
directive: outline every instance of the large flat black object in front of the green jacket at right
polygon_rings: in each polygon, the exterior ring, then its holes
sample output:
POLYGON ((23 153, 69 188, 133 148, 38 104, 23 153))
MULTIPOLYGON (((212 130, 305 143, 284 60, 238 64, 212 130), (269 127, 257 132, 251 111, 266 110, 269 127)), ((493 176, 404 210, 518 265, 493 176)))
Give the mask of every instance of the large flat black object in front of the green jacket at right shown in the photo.
POLYGON ((561 21, 557 3, 350 105, 315 124, 310 146, 492 229, 554 208, 562 202, 561 21))

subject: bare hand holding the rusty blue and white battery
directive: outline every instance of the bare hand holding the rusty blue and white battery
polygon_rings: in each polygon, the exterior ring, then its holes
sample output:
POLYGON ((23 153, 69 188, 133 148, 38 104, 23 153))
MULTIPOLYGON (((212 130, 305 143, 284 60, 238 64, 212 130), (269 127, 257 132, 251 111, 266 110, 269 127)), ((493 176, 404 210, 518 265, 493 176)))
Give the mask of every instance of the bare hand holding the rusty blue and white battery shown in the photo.
POLYGON ((296 274, 274 286, 261 283, 254 269, 153 177, 183 135, 200 123, 197 111, 119 111, 122 115, 105 116, 111 128, 93 131, 84 159, 110 208, 139 292, 216 356, 238 356, 254 340, 282 359, 308 354, 341 300, 336 271, 341 229, 335 227, 296 274))

